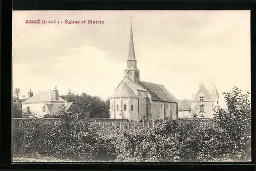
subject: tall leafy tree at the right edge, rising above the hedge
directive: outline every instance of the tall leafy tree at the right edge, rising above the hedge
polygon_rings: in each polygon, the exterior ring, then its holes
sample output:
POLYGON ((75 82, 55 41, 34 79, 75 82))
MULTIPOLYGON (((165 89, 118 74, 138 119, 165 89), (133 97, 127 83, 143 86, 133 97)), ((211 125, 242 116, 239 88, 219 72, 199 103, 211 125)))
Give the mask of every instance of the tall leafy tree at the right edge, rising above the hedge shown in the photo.
MULTIPOLYGON (((250 93, 234 87, 223 93, 227 109, 217 109, 215 118, 227 137, 227 151, 234 160, 247 160, 251 151, 251 101, 250 93)), ((224 142, 223 142, 224 143, 224 142)), ((225 145, 223 145, 225 146, 225 145)))

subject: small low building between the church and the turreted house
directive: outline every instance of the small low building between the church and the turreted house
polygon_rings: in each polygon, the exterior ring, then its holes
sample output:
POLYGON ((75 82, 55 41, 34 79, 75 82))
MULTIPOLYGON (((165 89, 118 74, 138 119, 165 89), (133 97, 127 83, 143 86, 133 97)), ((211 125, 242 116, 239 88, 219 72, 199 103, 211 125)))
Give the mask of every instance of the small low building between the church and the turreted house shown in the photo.
POLYGON ((191 100, 183 99, 178 102, 178 117, 179 118, 191 118, 191 100))

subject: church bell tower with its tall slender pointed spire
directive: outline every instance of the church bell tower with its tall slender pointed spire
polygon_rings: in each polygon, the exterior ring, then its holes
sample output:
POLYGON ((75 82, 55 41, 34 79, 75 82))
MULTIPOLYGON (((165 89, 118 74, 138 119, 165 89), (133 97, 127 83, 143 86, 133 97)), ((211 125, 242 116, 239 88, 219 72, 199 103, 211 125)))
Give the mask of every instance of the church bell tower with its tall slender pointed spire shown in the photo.
POLYGON ((131 23, 131 33, 130 33, 130 44, 129 44, 128 59, 127 59, 127 67, 124 70, 124 76, 131 78, 131 80, 135 83, 140 82, 140 71, 137 68, 137 60, 135 58, 135 51, 134 51, 132 23, 131 23))

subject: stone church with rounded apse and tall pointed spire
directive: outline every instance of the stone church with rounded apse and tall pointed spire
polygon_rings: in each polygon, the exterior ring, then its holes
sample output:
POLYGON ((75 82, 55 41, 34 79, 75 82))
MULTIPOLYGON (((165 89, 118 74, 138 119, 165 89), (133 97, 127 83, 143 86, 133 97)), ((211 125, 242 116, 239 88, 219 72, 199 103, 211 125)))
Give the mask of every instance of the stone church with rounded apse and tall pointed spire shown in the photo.
POLYGON ((131 25, 124 78, 110 99, 110 118, 134 121, 178 118, 178 100, 163 85, 140 80, 131 25))

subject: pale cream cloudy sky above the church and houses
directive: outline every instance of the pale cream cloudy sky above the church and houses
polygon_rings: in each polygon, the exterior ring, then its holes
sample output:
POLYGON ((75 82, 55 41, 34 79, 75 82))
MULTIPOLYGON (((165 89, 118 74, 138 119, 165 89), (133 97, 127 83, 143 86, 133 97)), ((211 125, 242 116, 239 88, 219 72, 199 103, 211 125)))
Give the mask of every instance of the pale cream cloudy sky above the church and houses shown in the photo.
MULTIPOLYGON (((250 91, 250 11, 13 11, 13 89, 111 97, 124 77, 131 22, 140 80, 191 99, 250 91), (26 20, 104 24, 26 24, 26 20)), ((224 106, 223 96, 220 105, 224 106)))

